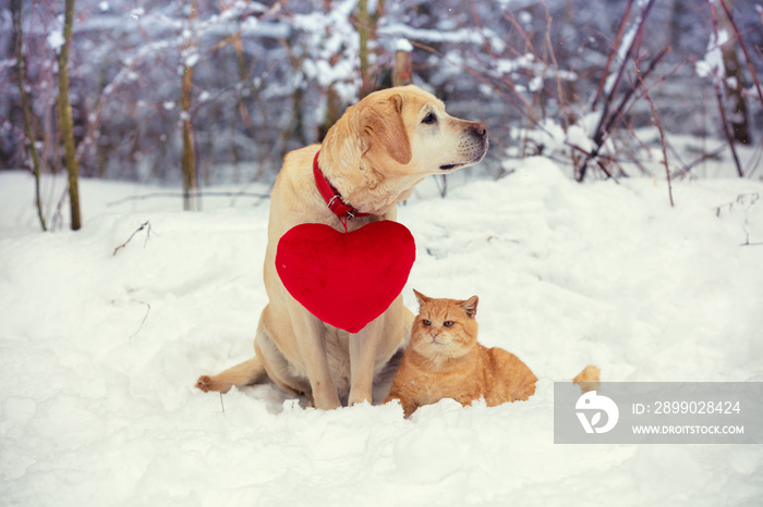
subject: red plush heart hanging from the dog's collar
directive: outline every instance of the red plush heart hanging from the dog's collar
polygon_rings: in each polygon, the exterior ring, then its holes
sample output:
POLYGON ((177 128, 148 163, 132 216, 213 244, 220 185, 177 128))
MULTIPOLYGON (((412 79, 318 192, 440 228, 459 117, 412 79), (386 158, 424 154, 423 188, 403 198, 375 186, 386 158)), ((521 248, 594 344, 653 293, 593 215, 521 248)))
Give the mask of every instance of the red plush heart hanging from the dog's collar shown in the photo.
POLYGON ((398 297, 415 257, 411 232, 397 222, 372 222, 350 233, 306 223, 281 236, 276 270, 315 317, 358 333, 398 297))

